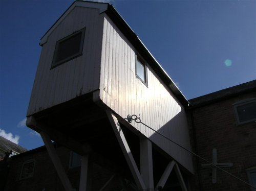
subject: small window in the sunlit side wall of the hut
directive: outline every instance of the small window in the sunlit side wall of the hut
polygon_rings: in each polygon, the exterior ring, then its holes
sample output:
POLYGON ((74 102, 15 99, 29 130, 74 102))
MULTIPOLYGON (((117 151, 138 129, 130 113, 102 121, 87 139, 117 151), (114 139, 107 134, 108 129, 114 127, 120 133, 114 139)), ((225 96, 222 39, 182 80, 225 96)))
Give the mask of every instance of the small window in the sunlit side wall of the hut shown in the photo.
POLYGON ((135 71, 136 76, 147 86, 146 62, 139 55, 136 55, 135 71))

